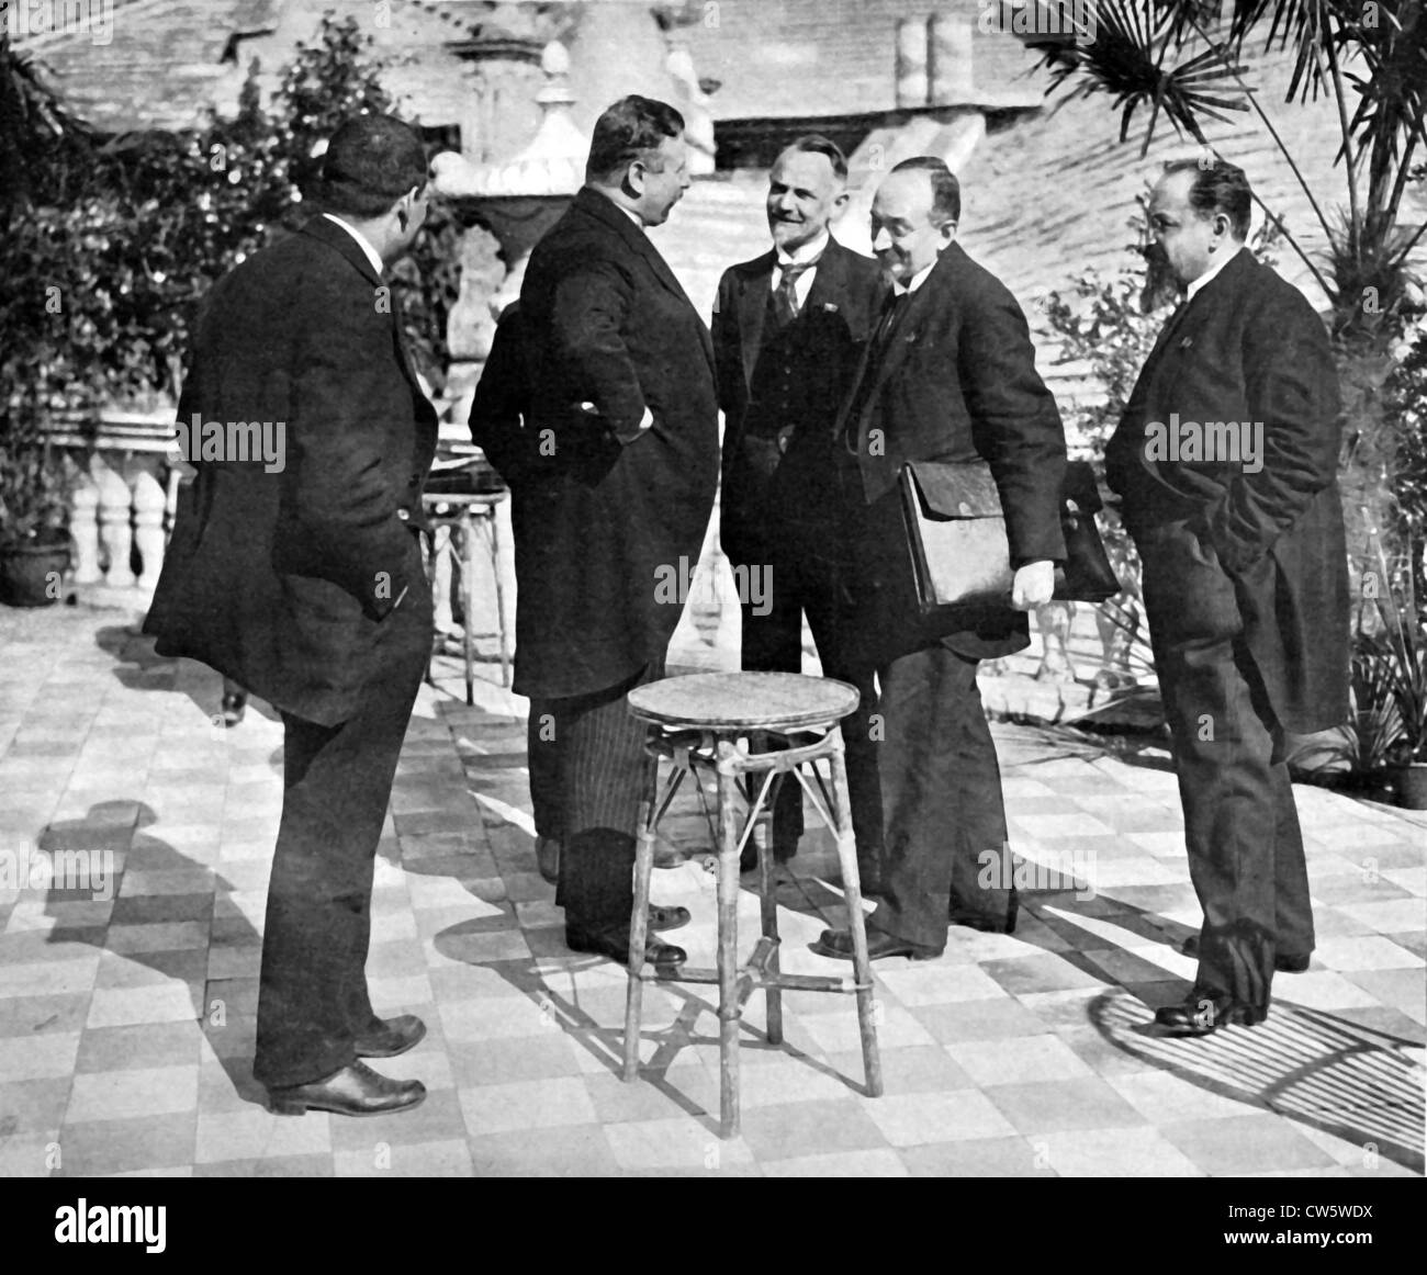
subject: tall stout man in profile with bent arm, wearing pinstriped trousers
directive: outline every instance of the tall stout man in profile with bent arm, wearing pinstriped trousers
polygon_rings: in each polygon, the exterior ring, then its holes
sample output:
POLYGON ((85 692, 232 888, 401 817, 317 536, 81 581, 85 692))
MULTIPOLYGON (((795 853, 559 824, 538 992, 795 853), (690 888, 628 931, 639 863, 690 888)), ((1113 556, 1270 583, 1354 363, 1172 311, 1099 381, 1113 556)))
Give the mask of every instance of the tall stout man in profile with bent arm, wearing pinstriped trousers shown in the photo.
MULTIPOLYGON (((472 408, 488 445, 511 435, 525 399, 525 441, 507 454, 518 471, 515 690, 531 697, 532 783, 558 794, 538 794, 537 810, 539 831, 561 841, 565 940, 616 961, 629 957, 649 764, 625 696, 664 675, 682 599, 661 582, 698 560, 718 482, 708 328, 645 234, 688 190, 682 133, 678 111, 636 96, 599 117, 586 184, 531 254, 524 335, 498 332, 498 377, 472 408)), ((686 921, 685 908, 655 908, 651 927, 686 921)), ((648 958, 684 951, 651 938, 648 958)))

